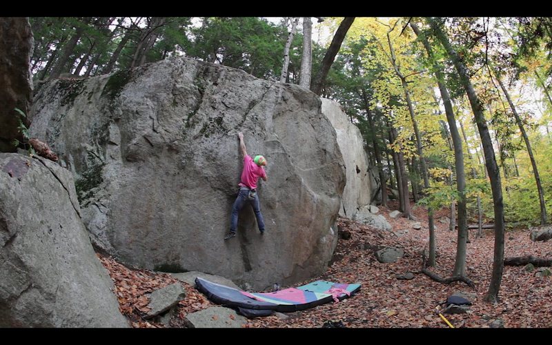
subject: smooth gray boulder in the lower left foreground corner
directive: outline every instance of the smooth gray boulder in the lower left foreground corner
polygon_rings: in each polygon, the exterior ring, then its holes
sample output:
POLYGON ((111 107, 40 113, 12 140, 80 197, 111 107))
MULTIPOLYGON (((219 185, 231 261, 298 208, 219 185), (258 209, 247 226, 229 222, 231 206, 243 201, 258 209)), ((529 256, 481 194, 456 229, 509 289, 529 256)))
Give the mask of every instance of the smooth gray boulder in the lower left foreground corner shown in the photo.
POLYGON ((0 153, 0 327, 128 327, 70 172, 0 153))

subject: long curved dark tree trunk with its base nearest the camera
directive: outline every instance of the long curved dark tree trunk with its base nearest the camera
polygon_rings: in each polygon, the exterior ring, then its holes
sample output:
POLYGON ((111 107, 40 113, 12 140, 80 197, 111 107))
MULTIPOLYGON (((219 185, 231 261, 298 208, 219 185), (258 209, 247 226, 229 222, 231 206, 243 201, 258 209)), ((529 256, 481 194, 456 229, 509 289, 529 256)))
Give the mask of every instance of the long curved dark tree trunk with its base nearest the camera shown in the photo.
POLYGON ((500 170, 496 163, 495 152, 493 150, 493 141, 491 140, 491 135, 489 135, 489 128, 487 128, 481 101, 477 97, 477 94, 471 84, 469 72, 462 59, 460 59, 457 55, 457 52, 453 50, 453 47, 449 42, 449 38, 446 36, 445 32, 441 29, 440 24, 438 23, 441 22, 442 19, 426 18, 426 20, 434 30, 437 39, 439 39, 442 46, 445 48, 447 54, 449 55, 449 59, 453 61, 458 75, 460 76, 460 82, 468 95, 473 115, 475 117, 475 122, 477 123, 477 129, 480 132, 485 155, 485 164, 487 172, 489 173, 489 178, 491 179, 493 208, 495 213, 493 273, 485 300, 487 302, 497 302, 500 283, 502 282, 502 273, 504 271, 504 204, 502 201, 502 182, 500 181, 500 170))

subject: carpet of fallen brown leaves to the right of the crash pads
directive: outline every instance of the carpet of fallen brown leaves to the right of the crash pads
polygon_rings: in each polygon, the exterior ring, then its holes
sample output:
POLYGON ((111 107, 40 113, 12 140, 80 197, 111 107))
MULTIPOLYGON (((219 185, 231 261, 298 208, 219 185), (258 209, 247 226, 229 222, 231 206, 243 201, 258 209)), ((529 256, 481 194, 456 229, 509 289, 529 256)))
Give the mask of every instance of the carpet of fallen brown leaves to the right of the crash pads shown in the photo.
MULTIPOLYGON (((391 204, 391 208, 393 206, 391 204)), ((386 217, 394 229, 411 228, 413 221, 391 219, 388 217, 389 210, 382 207, 380 210, 380 214, 386 217)), ((426 210, 414 207, 413 213, 422 226, 427 224, 426 210)), ((435 219, 447 213, 449 210, 440 210, 435 213, 435 219)), ((501 302, 497 305, 484 302, 491 280, 494 245, 492 230, 485 230, 483 238, 475 237, 476 230, 470 233, 466 267, 468 277, 475 282, 475 287, 470 288, 463 282, 440 284, 423 274, 415 274, 411 280, 395 278, 395 275, 420 271, 420 250, 427 246, 428 230, 409 231, 402 237, 396 237, 393 233, 348 219, 339 219, 338 225, 340 229, 351 233, 351 239, 339 239, 335 248, 335 255, 339 255, 339 259, 316 279, 360 283, 362 287, 359 292, 345 299, 347 304, 344 301, 323 304, 301 313, 291 313, 288 319, 251 319, 248 327, 313 328, 322 327, 328 320, 342 320, 347 327, 449 328, 435 313, 435 306, 456 291, 475 295, 470 313, 444 315, 456 328, 488 328, 493 319, 502 319, 507 327, 520 327, 521 324, 528 327, 552 326, 552 311, 546 307, 549 305, 546 301, 552 298, 552 280, 535 278, 530 273, 524 273, 522 267, 504 267, 499 294, 501 302), (373 259, 373 253, 384 246, 403 248, 405 255, 393 264, 380 264, 373 259), (540 320, 534 315, 539 315, 540 320), (520 322, 520 318, 524 322, 520 322)), ((531 254, 546 257, 546 253, 552 250, 552 241, 535 244, 530 241, 527 230, 511 231, 508 235, 513 239, 506 242, 506 256, 531 254)), ((437 266, 432 270, 437 275, 449 277, 454 268, 457 234, 449 231, 446 224, 436 222, 436 236, 437 266)))

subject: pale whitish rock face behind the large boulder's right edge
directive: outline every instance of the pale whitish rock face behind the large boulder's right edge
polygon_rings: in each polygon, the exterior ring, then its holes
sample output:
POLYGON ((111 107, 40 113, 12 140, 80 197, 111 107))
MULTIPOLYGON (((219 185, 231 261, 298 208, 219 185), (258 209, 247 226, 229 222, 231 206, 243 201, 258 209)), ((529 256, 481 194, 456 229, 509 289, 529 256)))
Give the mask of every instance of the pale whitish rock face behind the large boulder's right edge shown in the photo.
POLYGON ((357 126, 351 124, 339 103, 322 98, 322 112, 331 121, 337 134, 346 167, 346 185, 343 190, 342 207, 339 215, 353 219, 359 208, 370 204, 371 191, 377 190, 371 179, 368 155, 364 150, 364 139, 357 126))

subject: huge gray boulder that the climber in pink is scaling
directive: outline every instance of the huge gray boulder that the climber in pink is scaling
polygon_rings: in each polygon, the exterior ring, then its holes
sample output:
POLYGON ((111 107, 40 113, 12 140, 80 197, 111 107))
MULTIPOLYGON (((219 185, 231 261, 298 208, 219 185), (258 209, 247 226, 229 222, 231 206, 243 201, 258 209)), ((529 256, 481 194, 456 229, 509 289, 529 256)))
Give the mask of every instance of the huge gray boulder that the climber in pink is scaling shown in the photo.
POLYGON ((75 174, 92 240, 121 262, 199 270, 255 290, 326 268, 345 184, 335 130, 299 86, 192 59, 45 83, 31 132, 75 174), (266 223, 240 214, 224 241, 243 159, 268 161, 258 193, 266 223))

